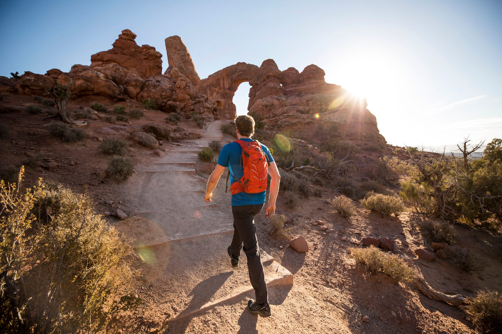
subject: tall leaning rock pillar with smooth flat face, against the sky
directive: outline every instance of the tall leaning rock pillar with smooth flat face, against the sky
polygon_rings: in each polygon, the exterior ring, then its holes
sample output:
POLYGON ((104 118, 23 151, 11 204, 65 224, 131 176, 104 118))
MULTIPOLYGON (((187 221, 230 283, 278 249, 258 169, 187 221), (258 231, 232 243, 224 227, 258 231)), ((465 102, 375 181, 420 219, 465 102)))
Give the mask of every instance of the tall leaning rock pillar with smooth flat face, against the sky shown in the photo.
POLYGON ((192 57, 188 52, 187 47, 179 36, 171 36, 166 38, 166 55, 169 63, 169 68, 164 75, 168 75, 174 79, 187 78, 192 85, 197 85, 200 81, 192 57))

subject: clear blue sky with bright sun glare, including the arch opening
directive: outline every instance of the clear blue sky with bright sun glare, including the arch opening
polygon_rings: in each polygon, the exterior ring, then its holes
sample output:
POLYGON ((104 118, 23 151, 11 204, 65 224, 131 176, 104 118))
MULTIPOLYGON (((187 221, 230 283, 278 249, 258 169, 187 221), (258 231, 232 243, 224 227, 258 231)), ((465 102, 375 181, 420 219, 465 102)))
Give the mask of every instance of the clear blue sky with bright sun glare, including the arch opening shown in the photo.
MULTIPOLYGON (((164 39, 179 35, 201 78, 269 58, 281 70, 318 65, 367 98, 392 144, 502 137, 499 0, 4 1, 0 13, 4 76, 88 65, 123 29, 163 55, 164 39)), ((237 91, 239 113, 247 93, 237 91)))

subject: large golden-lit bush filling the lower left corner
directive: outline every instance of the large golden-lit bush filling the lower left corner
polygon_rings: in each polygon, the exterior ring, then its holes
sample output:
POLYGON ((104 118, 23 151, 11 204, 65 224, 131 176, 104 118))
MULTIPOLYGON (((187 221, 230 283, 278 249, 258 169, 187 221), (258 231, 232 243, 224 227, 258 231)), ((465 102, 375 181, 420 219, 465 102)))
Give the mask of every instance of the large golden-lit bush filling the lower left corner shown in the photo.
POLYGON ((11 297, 0 301, 3 331, 113 331, 109 320, 141 302, 124 294, 133 249, 94 212, 91 198, 43 187, 40 181, 25 192, 0 186, 11 203, 0 217, 0 247, 9 254, 0 263, 0 293, 11 297))

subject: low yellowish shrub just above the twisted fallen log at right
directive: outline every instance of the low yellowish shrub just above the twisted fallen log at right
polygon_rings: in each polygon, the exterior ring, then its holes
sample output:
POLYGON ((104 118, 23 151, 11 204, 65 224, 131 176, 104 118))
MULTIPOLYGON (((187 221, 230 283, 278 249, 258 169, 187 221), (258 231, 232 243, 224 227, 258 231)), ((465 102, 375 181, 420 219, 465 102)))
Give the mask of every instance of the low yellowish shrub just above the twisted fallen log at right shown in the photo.
POLYGON ((366 248, 349 248, 355 262, 363 264, 368 274, 383 272, 396 282, 411 282, 415 271, 399 255, 381 251, 373 245, 366 248))

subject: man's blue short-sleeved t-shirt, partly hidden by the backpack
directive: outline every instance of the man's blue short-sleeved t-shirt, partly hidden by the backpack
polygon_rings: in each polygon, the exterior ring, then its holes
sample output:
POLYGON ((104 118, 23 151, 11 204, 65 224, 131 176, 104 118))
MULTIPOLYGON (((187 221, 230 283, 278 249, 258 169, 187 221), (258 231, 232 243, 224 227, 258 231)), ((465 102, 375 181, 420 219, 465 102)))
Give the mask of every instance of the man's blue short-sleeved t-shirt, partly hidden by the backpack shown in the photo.
MULTIPOLYGON (((242 141, 250 142, 249 138, 242 138, 242 141)), ((262 145, 262 149, 267 154, 269 161, 274 161, 272 158, 272 154, 270 154, 270 150, 267 146, 262 145)), ((235 176, 238 180, 244 175, 244 167, 242 166, 242 149, 240 145, 236 142, 231 142, 223 146, 220 151, 220 155, 218 156, 218 165, 223 167, 228 167, 230 173, 235 176)), ((233 182, 237 182, 230 175, 230 185, 233 182)), ((230 188, 230 187, 229 187, 230 188)), ((256 194, 248 194, 246 192, 239 192, 235 195, 232 195, 232 206, 238 205, 250 205, 250 204, 264 204, 265 203, 265 193, 266 191, 262 191, 256 194)))

